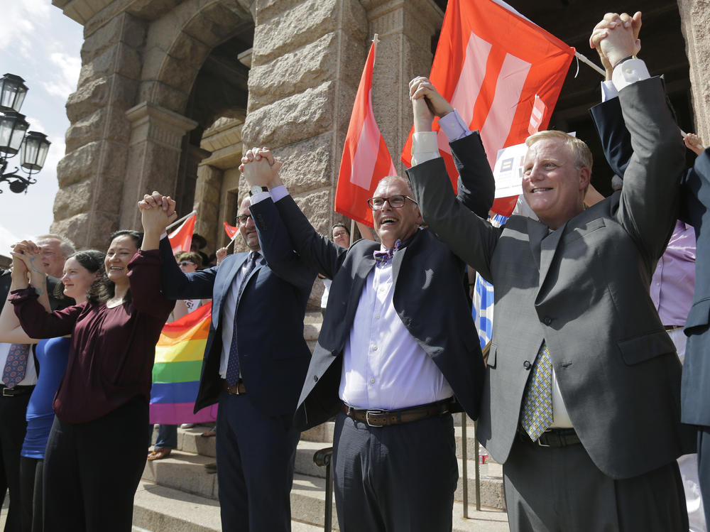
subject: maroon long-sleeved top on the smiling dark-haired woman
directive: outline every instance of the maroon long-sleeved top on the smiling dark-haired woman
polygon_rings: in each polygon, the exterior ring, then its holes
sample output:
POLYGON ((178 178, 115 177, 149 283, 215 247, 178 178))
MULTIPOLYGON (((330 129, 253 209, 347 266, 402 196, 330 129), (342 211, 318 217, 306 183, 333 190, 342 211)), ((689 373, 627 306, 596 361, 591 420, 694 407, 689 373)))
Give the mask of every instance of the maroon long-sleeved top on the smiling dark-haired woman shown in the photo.
POLYGON ((69 364, 54 399, 67 423, 85 423, 136 396, 151 398, 155 344, 175 301, 160 293, 160 253, 138 250, 129 263, 131 302, 108 308, 82 303, 48 313, 33 288, 9 300, 33 338, 72 335, 69 364))

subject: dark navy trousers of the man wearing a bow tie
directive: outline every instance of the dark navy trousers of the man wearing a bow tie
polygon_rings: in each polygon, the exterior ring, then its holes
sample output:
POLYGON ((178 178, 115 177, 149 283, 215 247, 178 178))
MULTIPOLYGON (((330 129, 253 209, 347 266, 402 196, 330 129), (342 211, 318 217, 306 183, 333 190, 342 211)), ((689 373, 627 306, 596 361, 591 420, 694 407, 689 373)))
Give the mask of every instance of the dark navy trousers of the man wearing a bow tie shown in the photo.
POLYGON ((451 414, 369 427, 338 413, 333 450, 342 532, 451 531, 459 479, 451 414))

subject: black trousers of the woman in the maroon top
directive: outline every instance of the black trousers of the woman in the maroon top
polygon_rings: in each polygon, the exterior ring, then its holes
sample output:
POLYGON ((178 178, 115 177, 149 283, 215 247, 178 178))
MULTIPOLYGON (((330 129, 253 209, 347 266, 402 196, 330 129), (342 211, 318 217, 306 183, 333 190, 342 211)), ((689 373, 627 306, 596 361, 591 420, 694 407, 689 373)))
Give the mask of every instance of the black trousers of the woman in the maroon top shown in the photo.
POLYGON ((148 456, 148 403, 136 397, 102 418, 55 418, 44 463, 45 532, 130 532, 148 456))

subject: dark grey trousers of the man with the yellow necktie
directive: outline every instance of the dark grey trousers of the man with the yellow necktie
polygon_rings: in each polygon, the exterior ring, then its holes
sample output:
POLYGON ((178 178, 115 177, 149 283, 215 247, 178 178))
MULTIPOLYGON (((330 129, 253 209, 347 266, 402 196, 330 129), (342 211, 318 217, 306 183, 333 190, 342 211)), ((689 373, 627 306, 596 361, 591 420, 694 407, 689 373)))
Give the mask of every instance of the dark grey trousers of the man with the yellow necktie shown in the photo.
POLYGON ((515 440, 503 465, 511 532, 687 532, 678 462, 638 477, 603 474, 581 444, 515 440))

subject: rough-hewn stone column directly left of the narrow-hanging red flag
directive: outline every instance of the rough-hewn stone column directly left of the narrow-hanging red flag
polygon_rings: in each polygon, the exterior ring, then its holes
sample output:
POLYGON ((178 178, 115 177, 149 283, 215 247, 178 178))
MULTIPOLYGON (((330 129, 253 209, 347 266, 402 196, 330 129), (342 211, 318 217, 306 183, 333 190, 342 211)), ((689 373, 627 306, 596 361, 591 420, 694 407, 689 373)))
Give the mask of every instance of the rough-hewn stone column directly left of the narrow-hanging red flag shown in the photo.
POLYGON ((258 0, 255 21, 244 145, 274 149, 290 192, 325 233, 366 58, 366 13, 356 0, 258 0))

